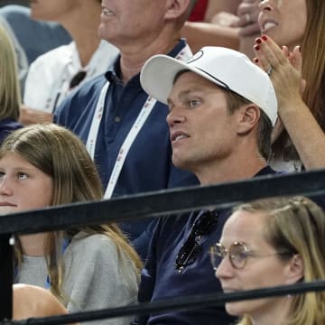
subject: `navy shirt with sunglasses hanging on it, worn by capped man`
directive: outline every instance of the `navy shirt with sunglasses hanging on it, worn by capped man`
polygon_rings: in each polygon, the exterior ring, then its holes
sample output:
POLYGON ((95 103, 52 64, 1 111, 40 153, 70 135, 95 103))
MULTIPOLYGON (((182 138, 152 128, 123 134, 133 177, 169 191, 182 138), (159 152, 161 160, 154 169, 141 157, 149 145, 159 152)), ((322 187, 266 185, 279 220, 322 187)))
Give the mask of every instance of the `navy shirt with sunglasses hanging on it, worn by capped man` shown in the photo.
MULTIPOLYGON (((265 167, 255 176, 273 174, 265 167)), ((220 283, 212 268, 209 247, 218 242, 222 228, 230 215, 229 209, 218 211, 218 222, 214 230, 200 240, 200 254, 193 264, 184 268, 182 273, 175 268, 181 246, 190 235, 194 222, 200 218, 203 210, 183 213, 179 216, 160 218, 153 229, 149 253, 141 274, 139 302, 156 302, 162 299, 222 292, 220 283)), ((135 324, 218 324, 229 325, 234 322, 224 308, 190 308, 188 311, 166 311, 140 317, 135 324)))

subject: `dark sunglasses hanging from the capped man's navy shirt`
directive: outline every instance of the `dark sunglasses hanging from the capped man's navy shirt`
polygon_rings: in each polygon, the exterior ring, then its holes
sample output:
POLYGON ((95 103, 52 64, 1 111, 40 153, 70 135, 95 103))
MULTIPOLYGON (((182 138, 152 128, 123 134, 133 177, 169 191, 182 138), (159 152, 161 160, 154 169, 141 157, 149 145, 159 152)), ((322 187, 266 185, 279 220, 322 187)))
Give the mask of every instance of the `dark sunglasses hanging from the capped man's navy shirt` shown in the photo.
POLYGON ((190 236, 186 239, 177 255, 175 268, 181 272, 183 269, 195 262, 200 255, 200 238, 209 235, 218 223, 218 211, 206 211, 197 218, 190 230, 190 236))

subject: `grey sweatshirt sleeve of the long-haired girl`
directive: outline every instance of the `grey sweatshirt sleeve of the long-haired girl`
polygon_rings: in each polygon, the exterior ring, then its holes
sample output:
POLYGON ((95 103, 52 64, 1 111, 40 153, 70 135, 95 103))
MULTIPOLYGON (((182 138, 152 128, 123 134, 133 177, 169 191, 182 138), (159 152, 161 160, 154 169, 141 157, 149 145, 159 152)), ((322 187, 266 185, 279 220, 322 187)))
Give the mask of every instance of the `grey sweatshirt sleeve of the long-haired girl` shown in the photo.
MULTIPOLYGON (((121 307, 136 302, 135 267, 117 252, 105 236, 91 236, 71 243, 63 284, 70 297, 70 312, 121 307), (123 260, 123 261, 122 261, 123 260)), ((68 248, 67 248, 68 251, 68 248)), ((68 252, 67 252, 68 253, 68 252)), ((132 318, 98 320, 96 324, 129 324, 132 318)))

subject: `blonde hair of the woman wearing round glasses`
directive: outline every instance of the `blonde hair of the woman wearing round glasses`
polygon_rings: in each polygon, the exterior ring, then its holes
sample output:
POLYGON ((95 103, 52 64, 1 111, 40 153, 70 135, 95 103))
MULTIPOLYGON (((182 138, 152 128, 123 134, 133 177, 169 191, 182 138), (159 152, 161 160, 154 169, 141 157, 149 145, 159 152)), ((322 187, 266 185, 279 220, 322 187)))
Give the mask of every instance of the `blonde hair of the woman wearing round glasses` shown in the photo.
MULTIPOLYGON (((302 257, 302 281, 325 279, 325 213, 316 203, 304 197, 271 198, 255 200, 236 209, 265 215, 265 240, 276 251, 302 257)), ((247 315, 238 323, 251 324, 247 315)), ((325 292, 292 296, 292 312, 285 324, 325 324, 325 292)))

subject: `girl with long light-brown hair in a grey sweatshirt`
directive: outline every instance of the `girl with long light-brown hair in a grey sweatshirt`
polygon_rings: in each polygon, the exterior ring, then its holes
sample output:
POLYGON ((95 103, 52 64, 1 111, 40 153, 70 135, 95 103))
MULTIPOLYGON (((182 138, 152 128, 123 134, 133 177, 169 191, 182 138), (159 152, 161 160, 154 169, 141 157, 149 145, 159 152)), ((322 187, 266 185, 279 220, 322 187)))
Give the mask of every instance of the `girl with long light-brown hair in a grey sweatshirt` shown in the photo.
MULTIPOLYGON (((84 144, 52 124, 8 136, 0 148, 0 181, 1 214, 103 197, 84 144)), ((68 311, 136 302, 141 266, 115 223, 21 235, 15 245, 16 282, 49 287, 68 311)))

